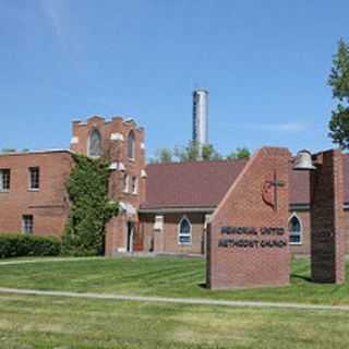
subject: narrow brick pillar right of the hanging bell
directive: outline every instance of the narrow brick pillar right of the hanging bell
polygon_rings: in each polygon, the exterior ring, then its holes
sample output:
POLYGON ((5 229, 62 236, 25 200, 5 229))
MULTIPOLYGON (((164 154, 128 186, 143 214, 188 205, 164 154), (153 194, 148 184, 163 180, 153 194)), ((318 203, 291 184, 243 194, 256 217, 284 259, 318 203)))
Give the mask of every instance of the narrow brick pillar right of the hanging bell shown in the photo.
POLYGON ((311 173, 312 279, 316 282, 345 281, 346 231, 344 169, 339 151, 313 157, 311 173))

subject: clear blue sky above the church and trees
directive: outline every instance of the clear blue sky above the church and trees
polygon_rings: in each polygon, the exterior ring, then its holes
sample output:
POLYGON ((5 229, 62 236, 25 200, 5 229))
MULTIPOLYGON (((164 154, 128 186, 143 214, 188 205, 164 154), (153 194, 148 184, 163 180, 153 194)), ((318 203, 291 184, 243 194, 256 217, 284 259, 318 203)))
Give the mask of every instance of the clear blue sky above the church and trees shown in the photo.
POLYGON ((71 121, 134 117, 147 155, 191 139, 209 91, 209 141, 332 147, 326 85, 349 1, 0 0, 0 148, 67 148, 71 121))

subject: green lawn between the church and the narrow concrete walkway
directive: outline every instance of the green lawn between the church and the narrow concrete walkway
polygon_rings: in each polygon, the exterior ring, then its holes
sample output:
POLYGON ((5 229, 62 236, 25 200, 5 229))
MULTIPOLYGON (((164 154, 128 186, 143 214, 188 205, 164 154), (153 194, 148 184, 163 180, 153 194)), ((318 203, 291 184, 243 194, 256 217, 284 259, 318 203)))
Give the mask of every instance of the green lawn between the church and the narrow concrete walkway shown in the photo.
MULTIPOLYGON (((37 258, 36 258, 37 260, 37 258)), ((349 282, 313 284, 308 258, 292 262, 291 284, 278 288, 209 291, 205 261, 189 257, 115 257, 1 265, 0 287, 192 297, 227 300, 349 304, 349 282)), ((347 273, 349 280, 349 273, 347 273)))

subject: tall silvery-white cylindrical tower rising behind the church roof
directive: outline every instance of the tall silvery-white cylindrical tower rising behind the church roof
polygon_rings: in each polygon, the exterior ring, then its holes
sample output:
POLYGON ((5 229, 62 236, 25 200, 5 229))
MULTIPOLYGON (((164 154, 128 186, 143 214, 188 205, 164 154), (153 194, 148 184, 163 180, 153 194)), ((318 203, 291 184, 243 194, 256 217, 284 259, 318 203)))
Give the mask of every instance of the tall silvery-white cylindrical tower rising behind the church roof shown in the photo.
POLYGON ((208 92, 203 88, 193 92, 193 141, 208 143, 208 92))

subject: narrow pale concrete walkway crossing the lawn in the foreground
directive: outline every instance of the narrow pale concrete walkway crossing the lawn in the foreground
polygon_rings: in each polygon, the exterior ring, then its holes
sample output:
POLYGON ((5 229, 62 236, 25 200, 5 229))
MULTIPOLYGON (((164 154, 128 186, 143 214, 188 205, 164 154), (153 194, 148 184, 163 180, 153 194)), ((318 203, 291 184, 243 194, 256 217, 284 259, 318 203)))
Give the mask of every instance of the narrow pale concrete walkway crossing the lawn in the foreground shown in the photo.
POLYGON ((171 298, 171 297, 143 297, 143 296, 122 296, 110 293, 77 293, 65 291, 41 291, 17 288, 0 287, 0 293, 27 294, 27 296, 49 296, 49 297, 69 297, 82 299, 104 299, 115 301, 136 301, 154 303, 176 303, 188 305, 221 305, 231 308, 266 308, 266 309, 293 309, 308 311, 345 311, 349 312, 349 305, 321 305, 321 304, 296 304, 281 302, 254 302, 254 301, 228 301, 210 300, 202 298, 171 298))

